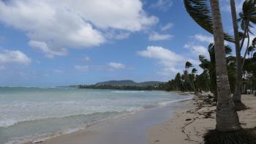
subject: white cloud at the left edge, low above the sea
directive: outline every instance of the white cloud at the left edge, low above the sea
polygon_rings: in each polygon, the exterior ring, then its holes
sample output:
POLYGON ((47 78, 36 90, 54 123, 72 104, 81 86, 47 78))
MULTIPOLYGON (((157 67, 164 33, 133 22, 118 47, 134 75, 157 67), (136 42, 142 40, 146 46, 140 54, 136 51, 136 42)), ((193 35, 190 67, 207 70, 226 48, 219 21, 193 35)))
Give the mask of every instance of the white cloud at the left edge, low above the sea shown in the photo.
POLYGON ((0 64, 24 64, 31 63, 31 58, 20 50, 2 50, 0 51, 0 64))

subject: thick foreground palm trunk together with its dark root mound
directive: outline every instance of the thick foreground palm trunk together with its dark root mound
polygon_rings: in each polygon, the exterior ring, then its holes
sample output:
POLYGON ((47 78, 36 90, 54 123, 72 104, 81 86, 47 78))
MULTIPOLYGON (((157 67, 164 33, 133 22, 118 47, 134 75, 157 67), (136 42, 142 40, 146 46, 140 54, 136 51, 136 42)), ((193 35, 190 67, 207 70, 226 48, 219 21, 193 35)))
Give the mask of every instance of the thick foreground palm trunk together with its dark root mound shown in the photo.
POLYGON ((224 33, 222 17, 219 10, 219 0, 211 0, 211 13, 214 32, 214 51, 217 73, 217 111, 216 129, 208 131, 204 136, 207 143, 247 143, 244 133, 238 134, 241 129, 239 118, 230 93, 230 85, 227 77, 227 62, 225 58, 224 33), (236 136, 236 134, 238 134, 236 136), (231 135, 231 137, 230 137, 231 135), (241 139, 239 137, 242 135, 241 139), (238 138, 238 139, 237 139, 238 138), (223 141, 225 139, 225 141, 223 141), (219 140, 219 141, 218 141, 219 140))

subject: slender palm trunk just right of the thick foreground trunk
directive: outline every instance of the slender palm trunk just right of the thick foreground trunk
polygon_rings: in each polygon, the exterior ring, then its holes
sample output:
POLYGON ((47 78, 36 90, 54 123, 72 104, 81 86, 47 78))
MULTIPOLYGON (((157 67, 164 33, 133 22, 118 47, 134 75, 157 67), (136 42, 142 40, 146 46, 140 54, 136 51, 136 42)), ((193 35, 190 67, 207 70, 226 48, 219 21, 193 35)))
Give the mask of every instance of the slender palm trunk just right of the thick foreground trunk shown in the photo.
POLYGON ((230 0, 232 20, 233 20, 233 29, 235 35, 235 44, 236 44, 236 88, 233 95, 234 102, 241 102, 241 51, 240 51, 240 39, 238 34, 238 24, 236 18, 236 4, 235 0, 230 0))

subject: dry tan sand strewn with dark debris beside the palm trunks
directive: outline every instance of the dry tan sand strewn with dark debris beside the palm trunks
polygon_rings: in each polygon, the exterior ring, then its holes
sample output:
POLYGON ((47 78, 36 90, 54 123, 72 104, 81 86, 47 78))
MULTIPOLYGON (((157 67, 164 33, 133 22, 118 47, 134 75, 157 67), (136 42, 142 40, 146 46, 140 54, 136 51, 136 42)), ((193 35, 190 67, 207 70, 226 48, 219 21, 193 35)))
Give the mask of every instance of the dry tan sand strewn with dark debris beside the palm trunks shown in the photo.
MULTIPOLYGON (((170 121, 153 126, 148 131, 148 144, 194 144, 203 143, 203 134, 215 128, 216 106, 195 98, 184 110, 178 110, 170 121)), ((243 128, 256 126, 256 96, 243 95, 242 102, 249 107, 238 112, 243 128)))

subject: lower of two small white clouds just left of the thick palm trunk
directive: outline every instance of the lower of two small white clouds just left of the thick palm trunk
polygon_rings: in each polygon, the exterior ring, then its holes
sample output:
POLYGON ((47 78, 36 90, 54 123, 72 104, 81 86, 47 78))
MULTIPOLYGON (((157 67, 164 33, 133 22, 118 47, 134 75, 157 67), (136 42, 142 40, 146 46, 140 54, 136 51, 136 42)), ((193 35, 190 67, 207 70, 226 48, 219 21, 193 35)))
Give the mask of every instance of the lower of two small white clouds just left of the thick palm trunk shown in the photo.
POLYGON ((202 45, 186 44, 184 45, 184 48, 189 49, 196 56, 199 56, 199 55, 208 56, 207 48, 203 47, 202 45))

